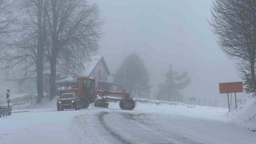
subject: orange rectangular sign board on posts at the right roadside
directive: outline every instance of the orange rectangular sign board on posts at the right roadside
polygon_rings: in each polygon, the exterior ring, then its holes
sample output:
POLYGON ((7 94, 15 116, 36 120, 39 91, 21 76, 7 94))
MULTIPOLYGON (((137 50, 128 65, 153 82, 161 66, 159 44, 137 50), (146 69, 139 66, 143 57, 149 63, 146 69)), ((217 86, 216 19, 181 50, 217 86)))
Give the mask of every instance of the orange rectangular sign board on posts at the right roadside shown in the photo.
POLYGON ((243 92, 242 82, 231 82, 231 83, 219 83, 219 93, 233 93, 233 92, 243 92))

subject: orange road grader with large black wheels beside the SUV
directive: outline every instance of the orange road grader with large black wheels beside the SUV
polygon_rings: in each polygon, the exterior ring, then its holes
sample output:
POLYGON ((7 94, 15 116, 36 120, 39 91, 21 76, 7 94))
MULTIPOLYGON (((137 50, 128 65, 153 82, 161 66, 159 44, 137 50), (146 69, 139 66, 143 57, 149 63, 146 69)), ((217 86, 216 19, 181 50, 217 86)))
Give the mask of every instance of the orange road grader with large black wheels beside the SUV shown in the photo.
POLYGON ((119 101, 120 108, 124 110, 133 110, 135 108, 135 102, 130 97, 129 92, 95 90, 95 87, 97 87, 95 77, 79 76, 76 78, 76 88, 61 90, 61 93, 76 93, 83 109, 87 109, 90 103, 94 103, 95 107, 108 108, 108 102, 110 101, 119 101), (122 98, 116 96, 121 96, 122 98), (100 99, 98 99, 99 97, 100 99))

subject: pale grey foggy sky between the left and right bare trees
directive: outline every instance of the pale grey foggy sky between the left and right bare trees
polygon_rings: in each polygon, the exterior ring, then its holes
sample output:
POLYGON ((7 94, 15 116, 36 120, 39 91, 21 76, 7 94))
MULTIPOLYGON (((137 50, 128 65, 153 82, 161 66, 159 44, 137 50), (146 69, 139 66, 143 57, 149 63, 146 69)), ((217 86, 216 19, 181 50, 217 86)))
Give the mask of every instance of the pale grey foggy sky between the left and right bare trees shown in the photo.
MULTIPOLYGON (((223 54, 207 22, 211 0, 90 2, 99 5, 105 21, 99 44, 110 72, 115 73, 121 65, 125 43, 126 54, 139 53, 150 71, 152 97, 157 85, 164 82, 168 64, 191 76, 191 84, 182 92, 185 101, 192 96, 226 101, 226 94, 219 94, 218 83, 241 81, 234 61, 223 54)), ((237 95, 245 98, 248 94, 237 95)))

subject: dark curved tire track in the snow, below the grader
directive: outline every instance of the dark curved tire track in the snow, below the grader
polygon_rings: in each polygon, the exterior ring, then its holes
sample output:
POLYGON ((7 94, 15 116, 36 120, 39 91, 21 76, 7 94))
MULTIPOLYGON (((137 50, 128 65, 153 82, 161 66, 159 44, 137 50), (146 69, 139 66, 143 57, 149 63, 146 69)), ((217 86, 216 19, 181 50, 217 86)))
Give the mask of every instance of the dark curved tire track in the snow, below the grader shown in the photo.
POLYGON ((102 126, 110 132, 112 136, 114 136, 117 140, 121 141, 123 144, 133 144, 131 141, 128 141, 124 139, 122 136, 120 136, 118 133, 114 132, 108 125, 106 125, 106 122, 104 121, 103 117, 104 115, 108 114, 108 112, 102 111, 98 114, 99 121, 101 122, 102 126))

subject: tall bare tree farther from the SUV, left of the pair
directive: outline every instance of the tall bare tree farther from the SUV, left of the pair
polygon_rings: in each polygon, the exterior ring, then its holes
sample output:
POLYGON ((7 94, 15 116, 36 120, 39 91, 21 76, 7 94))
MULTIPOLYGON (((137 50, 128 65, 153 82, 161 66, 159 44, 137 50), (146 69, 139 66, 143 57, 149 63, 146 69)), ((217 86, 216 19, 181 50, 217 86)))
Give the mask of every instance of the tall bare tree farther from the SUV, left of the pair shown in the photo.
POLYGON ((46 42, 46 13, 48 0, 23 0, 16 3, 23 10, 15 23, 15 32, 8 49, 1 54, 2 67, 18 85, 36 77, 38 100, 43 97, 44 48, 46 42))

